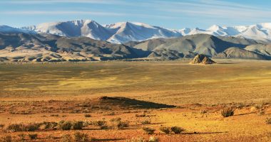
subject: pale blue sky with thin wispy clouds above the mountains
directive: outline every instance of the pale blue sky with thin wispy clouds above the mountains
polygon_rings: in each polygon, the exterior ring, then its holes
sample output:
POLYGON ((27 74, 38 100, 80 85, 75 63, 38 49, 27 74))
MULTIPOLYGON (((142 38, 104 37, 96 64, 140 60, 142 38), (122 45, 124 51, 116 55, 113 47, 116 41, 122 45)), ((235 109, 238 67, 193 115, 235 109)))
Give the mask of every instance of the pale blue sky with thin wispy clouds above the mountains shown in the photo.
POLYGON ((163 28, 208 28, 271 23, 270 0, 0 0, 0 25, 53 21, 123 21, 163 28))

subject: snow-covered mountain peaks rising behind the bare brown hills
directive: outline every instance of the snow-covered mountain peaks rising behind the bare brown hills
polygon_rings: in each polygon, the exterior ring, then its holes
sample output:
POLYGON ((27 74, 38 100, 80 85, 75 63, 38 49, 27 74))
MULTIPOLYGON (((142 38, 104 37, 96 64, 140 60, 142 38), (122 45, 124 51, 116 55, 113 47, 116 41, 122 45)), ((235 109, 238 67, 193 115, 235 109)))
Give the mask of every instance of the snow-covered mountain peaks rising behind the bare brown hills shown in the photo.
POLYGON ((28 26, 21 29, 68 37, 86 36, 96 40, 106 40, 111 43, 126 43, 128 41, 142 41, 152 38, 175 38, 198 33, 215 36, 235 36, 271 42, 271 23, 259 23, 252 26, 213 25, 207 29, 183 28, 171 30, 138 22, 120 22, 101 26, 92 20, 76 20, 41 23, 38 26, 28 26))

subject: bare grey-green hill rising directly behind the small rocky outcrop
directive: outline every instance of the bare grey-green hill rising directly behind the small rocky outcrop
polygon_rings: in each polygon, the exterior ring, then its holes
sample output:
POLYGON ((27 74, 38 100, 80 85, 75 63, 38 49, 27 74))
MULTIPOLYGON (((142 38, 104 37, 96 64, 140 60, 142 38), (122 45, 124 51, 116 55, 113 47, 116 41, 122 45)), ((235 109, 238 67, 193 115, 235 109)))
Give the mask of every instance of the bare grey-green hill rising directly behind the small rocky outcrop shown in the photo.
MULTIPOLYGON (((186 35, 182 38, 152 39, 133 45, 134 48, 160 53, 161 50, 175 50, 184 55, 191 53, 204 54, 212 57, 230 47, 245 48, 257 44, 255 40, 234 37, 215 37, 213 35, 186 35)), ((165 52, 165 51, 163 51, 165 52)), ((159 55, 159 54, 158 54, 159 55)))

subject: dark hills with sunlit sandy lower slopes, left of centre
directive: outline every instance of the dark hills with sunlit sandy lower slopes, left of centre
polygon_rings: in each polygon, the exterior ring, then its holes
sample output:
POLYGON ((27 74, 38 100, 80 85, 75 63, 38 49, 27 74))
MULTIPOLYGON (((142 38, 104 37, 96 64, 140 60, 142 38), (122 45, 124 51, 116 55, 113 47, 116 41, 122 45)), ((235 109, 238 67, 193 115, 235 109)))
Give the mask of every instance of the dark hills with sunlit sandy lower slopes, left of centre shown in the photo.
POLYGON ((0 33, 0 58, 14 62, 59 62, 117 60, 138 58, 139 50, 126 45, 86 37, 66 38, 58 35, 0 33))

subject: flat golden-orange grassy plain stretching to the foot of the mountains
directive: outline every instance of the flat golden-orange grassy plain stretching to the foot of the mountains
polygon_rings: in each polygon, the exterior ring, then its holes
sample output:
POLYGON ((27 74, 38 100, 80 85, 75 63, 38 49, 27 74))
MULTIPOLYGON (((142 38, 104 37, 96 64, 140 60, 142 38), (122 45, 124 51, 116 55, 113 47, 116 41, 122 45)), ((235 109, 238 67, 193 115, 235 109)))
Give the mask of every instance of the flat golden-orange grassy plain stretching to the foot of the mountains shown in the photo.
MULTIPOLYGON (((270 141, 271 127, 265 119, 271 116, 271 62, 215 61, 218 64, 189 65, 189 61, 175 60, 0 65, 0 124, 109 122, 121 117, 129 121, 127 129, 86 126, 81 132, 93 141, 126 141, 138 136, 155 136, 160 141, 270 141), (123 109, 93 101, 102 96, 178 107, 123 109), (228 105, 237 109, 234 116, 223 118, 220 110, 228 105), (145 134, 144 126, 155 133, 145 134), (160 126, 181 126, 185 132, 167 135, 159 131, 160 126)), ((3 130, 0 137, 16 139, 20 133, 37 133, 38 139, 29 141, 61 141, 63 134, 74 132, 3 130)))

